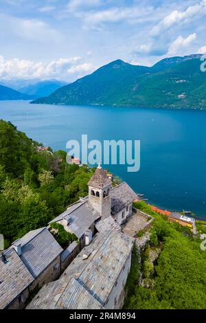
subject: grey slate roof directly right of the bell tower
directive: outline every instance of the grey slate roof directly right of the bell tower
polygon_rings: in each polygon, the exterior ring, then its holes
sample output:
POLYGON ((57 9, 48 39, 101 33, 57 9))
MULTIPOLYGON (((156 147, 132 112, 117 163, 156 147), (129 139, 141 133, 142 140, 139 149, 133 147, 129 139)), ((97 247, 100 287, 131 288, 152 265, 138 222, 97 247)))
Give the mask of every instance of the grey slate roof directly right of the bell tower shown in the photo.
POLYGON ((126 208, 137 197, 137 194, 124 181, 111 190, 111 213, 114 215, 126 208))

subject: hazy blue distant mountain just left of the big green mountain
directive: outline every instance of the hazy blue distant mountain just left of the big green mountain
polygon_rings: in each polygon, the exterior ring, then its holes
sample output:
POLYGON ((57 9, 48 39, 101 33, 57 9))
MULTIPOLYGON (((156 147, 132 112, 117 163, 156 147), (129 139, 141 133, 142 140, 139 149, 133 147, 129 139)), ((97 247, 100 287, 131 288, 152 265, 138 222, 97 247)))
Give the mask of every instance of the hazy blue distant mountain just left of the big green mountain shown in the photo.
POLYGON ((66 85, 66 82, 58 80, 44 80, 37 82, 35 84, 27 85, 19 89, 22 93, 33 96, 34 98, 41 98, 43 96, 49 96, 51 93, 59 89, 63 85, 66 85))

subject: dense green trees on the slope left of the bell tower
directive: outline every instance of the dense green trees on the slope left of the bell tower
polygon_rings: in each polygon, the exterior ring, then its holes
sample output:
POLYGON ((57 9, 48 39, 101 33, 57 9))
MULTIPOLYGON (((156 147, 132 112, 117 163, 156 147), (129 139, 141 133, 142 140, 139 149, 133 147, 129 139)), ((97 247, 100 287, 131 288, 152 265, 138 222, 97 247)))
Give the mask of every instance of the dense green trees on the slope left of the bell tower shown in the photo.
POLYGON ((87 195, 93 170, 68 165, 64 151, 38 153, 37 145, 0 120, 0 233, 5 247, 87 195))

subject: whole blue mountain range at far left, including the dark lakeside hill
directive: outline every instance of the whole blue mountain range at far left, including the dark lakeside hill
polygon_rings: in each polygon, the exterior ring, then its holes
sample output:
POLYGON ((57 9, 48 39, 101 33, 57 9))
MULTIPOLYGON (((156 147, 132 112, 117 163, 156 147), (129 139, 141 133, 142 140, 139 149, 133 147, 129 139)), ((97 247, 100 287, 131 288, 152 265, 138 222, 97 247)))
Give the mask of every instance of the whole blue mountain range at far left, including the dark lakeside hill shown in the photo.
POLYGON ((0 81, 0 100, 34 100, 49 96, 66 82, 52 80, 2 80, 0 81))

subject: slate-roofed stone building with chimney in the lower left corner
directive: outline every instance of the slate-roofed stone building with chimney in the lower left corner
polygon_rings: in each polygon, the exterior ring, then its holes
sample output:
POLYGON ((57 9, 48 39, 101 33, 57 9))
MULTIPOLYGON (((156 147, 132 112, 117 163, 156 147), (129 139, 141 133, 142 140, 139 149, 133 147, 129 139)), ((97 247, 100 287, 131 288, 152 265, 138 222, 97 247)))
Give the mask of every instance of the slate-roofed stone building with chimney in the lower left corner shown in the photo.
POLYGON ((0 309, 21 309, 35 287, 56 280, 62 251, 46 227, 15 241, 0 258, 0 309))

